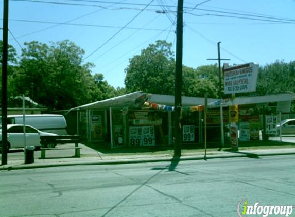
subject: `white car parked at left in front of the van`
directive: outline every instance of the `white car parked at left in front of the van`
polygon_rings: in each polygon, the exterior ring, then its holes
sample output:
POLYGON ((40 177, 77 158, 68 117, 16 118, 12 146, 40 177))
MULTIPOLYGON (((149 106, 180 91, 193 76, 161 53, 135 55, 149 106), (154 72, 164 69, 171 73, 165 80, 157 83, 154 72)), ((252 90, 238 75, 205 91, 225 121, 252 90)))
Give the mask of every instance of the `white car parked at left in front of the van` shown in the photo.
MULTIPOLYGON (((0 129, 0 150, 2 150, 2 129, 0 129)), ((26 125, 26 146, 40 147, 40 136, 57 136, 54 133, 42 132, 32 126, 26 125)), ((24 148, 24 125, 8 124, 7 125, 8 149, 24 148)))

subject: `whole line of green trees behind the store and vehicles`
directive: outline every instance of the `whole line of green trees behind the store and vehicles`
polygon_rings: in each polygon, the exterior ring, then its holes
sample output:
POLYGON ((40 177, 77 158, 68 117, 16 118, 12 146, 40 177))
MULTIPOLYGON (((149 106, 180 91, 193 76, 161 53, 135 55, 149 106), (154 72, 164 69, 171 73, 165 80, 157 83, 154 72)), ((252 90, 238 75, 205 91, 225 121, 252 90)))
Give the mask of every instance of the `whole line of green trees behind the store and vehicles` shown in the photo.
MULTIPOLYGON (((25 94, 49 110, 64 110, 140 90, 175 94, 175 59, 171 43, 156 41, 132 57, 125 69, 126 88, 115 89, 101 73, 92 74, 94 65, 84 63, 83 55, 84 50, 68 40, 49 44, 25 43, 20 58, 9 45, 8 97, 25 94)), ((237 96, 295 92, 294 83, 295 61, 276 61, 259 67, 256 92, 237 96)), ((207 92, 209 97, 218 98, 218 90, 217 64, 197 68, 183 66, 183 96, 203 97, 207 92)))

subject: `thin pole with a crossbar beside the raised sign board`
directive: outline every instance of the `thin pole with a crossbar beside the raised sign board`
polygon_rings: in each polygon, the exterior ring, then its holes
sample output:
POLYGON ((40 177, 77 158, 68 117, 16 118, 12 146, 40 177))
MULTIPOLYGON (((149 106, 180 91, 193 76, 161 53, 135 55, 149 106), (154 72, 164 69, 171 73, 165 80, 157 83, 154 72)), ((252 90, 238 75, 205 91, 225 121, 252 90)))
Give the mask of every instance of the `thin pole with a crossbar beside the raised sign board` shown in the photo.
POLYGON ((220 43, 217 43, 218 47, 218 58, 217 59, 207 59, 207 60, 218 60, 218 71, 219 71, 219 99, 220 99, 220 134, 221 134, 221 148, 224 148, 224 132, 223 132, 223 110, 222 110, 222 96, 221 96, 221 60, 230 60, 230 59, 221 59, 220 58, 220 43))

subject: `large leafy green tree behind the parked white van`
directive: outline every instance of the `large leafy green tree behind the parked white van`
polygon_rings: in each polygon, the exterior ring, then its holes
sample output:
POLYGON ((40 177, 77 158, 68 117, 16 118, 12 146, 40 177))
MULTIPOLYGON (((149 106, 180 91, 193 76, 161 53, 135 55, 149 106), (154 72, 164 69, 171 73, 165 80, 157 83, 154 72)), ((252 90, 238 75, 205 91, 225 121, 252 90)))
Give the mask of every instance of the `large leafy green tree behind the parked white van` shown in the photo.
POLYGON ((68 40, 46 45, 25 43, 11 80, 13 95, 25 94, 50 109, 62 110, 91 101, 93 78, 84 50, 68 40))

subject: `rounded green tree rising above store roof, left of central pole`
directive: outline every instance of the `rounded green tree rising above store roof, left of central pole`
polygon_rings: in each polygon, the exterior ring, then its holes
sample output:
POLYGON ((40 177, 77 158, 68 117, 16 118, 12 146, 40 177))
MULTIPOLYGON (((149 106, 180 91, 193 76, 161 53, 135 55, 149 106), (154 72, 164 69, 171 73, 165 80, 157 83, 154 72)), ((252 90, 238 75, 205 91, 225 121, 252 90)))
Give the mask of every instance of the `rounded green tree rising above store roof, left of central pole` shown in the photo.
POLYGON ((129 60, 125 69, 127 92, 174 93, 175 60, 171 46, 166 41, 157 41, 129 60))

